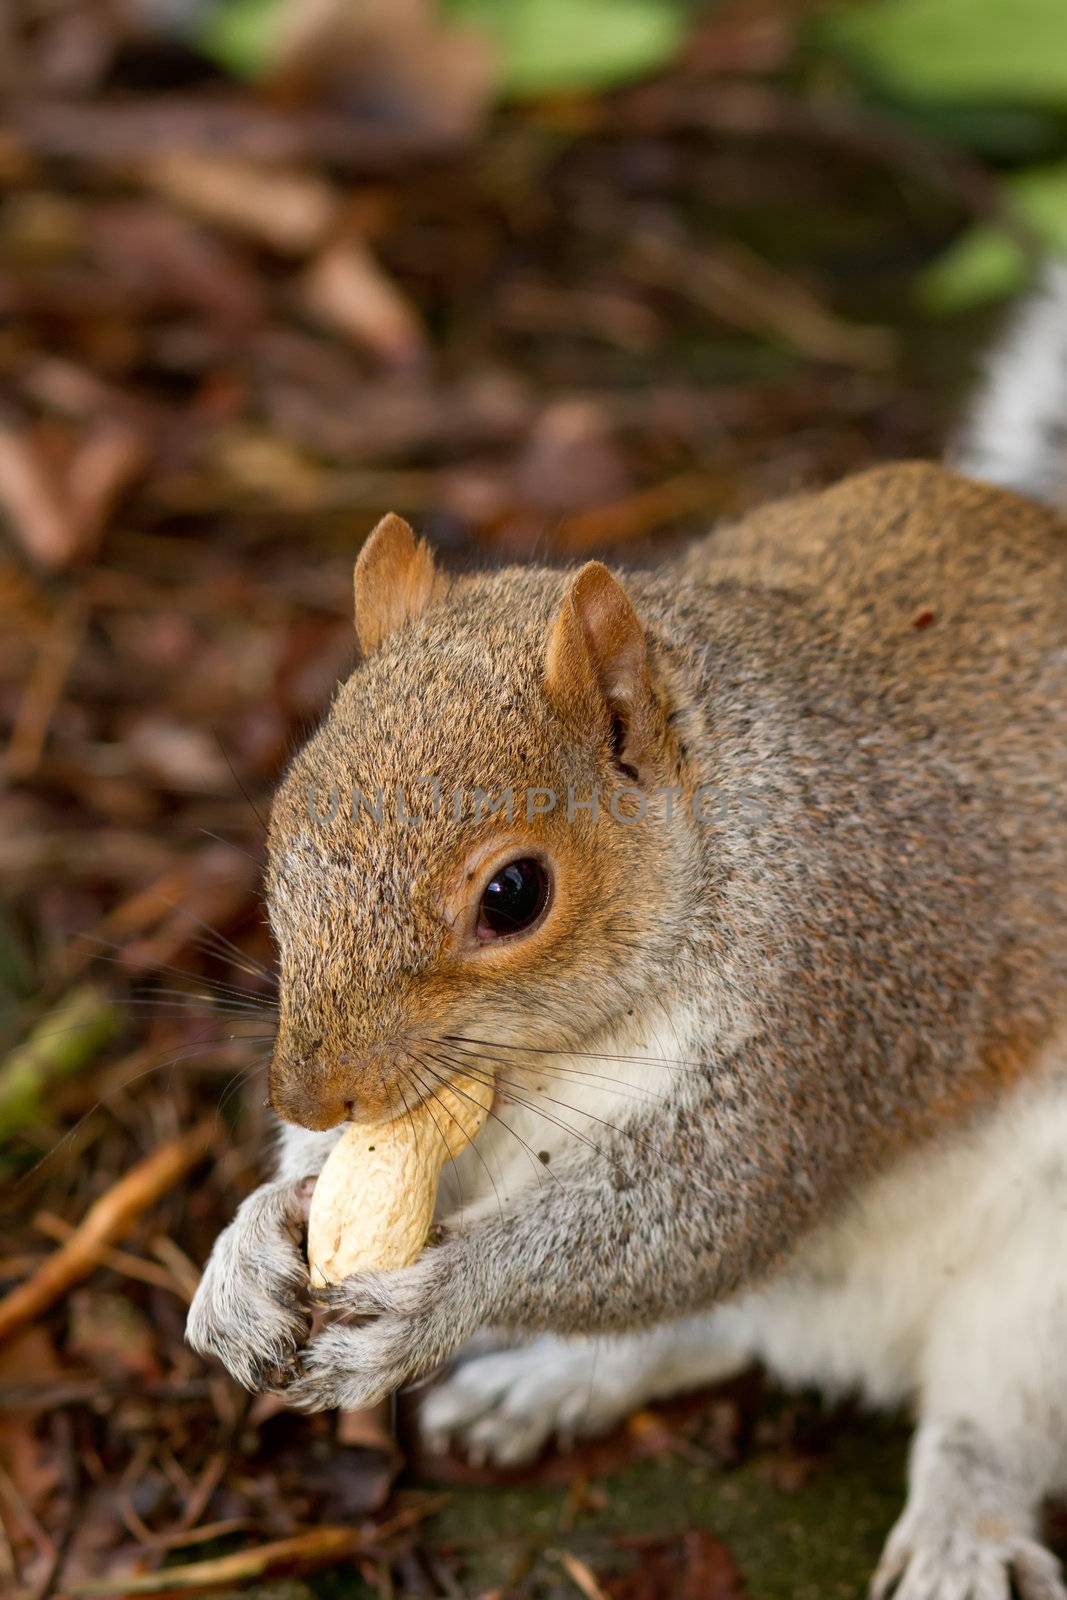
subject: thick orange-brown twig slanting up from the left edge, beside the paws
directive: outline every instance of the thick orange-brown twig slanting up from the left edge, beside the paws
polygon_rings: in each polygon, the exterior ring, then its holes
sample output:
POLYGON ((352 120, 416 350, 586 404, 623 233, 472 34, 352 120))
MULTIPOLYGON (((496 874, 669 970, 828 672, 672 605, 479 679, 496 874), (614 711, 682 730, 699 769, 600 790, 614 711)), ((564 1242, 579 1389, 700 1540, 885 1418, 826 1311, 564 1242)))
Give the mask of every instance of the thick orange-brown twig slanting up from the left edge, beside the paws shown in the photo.
POLYGON ((216 1138, 213 1120, 160 1146, 101 1195, 66 1245, 45 1261, 27 1283, 0 1301, 0 1339, 32 1322, 75 1283, 88 1277, 101 1251, 128 1232, 133 1222, 198 1160, 216 1138))

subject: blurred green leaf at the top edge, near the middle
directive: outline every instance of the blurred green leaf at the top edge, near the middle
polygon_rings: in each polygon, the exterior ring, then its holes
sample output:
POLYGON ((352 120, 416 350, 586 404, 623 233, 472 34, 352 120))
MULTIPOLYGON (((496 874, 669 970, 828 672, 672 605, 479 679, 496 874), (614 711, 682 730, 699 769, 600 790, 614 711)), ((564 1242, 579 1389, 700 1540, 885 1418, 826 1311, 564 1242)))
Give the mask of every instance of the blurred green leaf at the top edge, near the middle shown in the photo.
POLYGON ((515 96, 605 90, 665 66, 685 38, 678 0, 445 0, 488 34, 515 96))

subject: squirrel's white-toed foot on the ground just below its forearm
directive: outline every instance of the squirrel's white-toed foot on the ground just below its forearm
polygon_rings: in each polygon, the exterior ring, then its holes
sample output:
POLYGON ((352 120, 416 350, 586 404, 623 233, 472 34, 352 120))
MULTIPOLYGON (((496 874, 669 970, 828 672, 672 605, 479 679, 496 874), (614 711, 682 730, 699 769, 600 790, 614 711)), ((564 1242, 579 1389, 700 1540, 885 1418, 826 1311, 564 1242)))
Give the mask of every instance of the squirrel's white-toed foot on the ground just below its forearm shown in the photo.
POLYGON ((648 1374, 613 1363, 598 1341, 544 1336, 461 1362, 426 1395, 418 1426, 435 1454, 454 1443, 475 1466, 517 1467, 553 1437, 568 1450, 606 1434, 646 1392, 648 1374))

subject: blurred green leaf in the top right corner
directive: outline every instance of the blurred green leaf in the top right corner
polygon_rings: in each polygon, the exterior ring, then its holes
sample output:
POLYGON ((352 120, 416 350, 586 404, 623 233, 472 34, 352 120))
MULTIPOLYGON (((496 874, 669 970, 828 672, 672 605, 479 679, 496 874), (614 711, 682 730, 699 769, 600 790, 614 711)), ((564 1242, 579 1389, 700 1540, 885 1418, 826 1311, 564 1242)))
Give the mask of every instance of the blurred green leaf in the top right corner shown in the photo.
POLYGON ((1067 109, 1064 0, 867 0, 821 34, 902 99, 1067 109))

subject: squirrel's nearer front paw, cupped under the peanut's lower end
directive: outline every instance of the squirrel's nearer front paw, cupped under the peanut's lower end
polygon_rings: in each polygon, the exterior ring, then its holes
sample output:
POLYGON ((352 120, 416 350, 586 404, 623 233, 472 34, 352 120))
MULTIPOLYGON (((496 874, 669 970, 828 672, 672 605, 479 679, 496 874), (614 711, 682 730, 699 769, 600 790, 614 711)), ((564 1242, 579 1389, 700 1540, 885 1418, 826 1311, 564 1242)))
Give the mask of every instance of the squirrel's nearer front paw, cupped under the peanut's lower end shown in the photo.
POLYGON ((362 1272, 315 1290, 317 1304, 344 1320, 296 1354, 278 1392, 302 1411, 354 1411, 434 1371, 485 1320, 467 1264, 456 1240, 398 1272, 362 1272))

